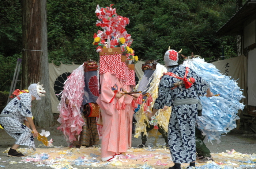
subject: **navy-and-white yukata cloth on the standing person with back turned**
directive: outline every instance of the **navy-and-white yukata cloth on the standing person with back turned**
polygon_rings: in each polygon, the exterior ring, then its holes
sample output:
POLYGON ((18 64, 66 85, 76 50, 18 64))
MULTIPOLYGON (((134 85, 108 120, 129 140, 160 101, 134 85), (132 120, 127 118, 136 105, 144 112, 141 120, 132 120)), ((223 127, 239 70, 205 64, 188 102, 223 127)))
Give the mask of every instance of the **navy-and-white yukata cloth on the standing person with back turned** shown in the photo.
MULTIPOLYGON (((183 78, 185 69, 185 66, 177 66, 169 68, 168 72, 173 72, 183 78)), ((196 160, 197 104, 172 104, 174 100, 178 99, 198 99, 197 93, 202 96, 206 93, 210 85, 192 69, 189 69, 187 79, 191 77, 195 78, 195 83, 190 88, 186 89, 183 85, 172 89, 173 83, 179 82, 180 79, 163 75, 159 83, 158 98, 154 104, 154 109, 173 106, 168 126, 168 145, 174 163, 189 163, 196 160)))

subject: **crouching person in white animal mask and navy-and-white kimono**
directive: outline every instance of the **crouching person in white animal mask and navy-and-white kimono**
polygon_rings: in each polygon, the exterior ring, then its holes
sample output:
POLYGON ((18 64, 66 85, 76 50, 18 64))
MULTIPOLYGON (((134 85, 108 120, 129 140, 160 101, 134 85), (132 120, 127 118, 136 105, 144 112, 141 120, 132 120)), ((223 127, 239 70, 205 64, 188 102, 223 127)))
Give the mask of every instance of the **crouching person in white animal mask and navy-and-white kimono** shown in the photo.
POLYGON ((38 82, 37 84, 31 84, 28 90, 19 91, 16 89, 12 94, 12 97, 15 98, 8 103, 0 114, 0 125, 16 139, 15 144, 8 152, 8 157, 24 157, 23 154, 16 151, 20 145, 29 146, 29 148, 35 150, 34 137, 38 136, 38 132, 32 119, 31 101, 34 99, 40 100, 42 96, 45 96, 42 86, 38 82))

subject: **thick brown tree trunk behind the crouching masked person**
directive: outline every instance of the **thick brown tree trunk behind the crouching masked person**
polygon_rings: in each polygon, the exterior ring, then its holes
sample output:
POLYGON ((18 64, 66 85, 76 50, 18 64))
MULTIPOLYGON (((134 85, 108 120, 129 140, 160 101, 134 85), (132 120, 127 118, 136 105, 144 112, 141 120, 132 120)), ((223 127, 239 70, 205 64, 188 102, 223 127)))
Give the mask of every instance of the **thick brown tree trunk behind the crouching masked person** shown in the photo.
POLYGON ((22 1, 22 87, 44 84, 46 96, 32 102, 35 125, 53 125, 47 54, 46 0, 22 1))

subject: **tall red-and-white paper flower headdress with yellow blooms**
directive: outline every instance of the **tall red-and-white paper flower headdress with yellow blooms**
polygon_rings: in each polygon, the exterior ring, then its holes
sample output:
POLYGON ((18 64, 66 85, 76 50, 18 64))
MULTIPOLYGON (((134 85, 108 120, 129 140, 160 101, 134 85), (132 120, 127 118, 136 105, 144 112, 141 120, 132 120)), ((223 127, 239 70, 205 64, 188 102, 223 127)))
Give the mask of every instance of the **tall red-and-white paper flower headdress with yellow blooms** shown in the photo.
POLYGON ((102 52, 102 48, 121 47, 123 55, 136 63, 138 56, 134 55, 134 51, 130 47, 133 40, 125 30, 130 20, 127 17, 117 15, 116 9, 112 6, 113 4, 110 7, 100 8, 97 5, 95 13, 99 20, 97 20, 96 26, 100 26, 103 31, 98 30, 97 34, 94 33, 93 44, 97 45, 96 52, 102 52))

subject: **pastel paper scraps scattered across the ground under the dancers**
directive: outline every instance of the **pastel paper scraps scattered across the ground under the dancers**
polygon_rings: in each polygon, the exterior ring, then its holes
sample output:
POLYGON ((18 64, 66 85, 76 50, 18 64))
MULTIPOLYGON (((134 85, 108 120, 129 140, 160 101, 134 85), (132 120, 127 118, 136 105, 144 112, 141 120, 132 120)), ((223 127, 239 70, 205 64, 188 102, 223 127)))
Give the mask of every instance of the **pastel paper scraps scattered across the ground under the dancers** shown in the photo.
MULTIPOLYGON (((3 153, 8 153, 10 148, 3 153)), ((130 148, 127 153, 120 154, 112 162, 102 162, 100 148, 69 148, 59 146, 56 148, 41 148, 33 152, 32 149, 20 148, 17 151, 25 154, 19 162, 8 161, 7 163, 18 168, 19 163, 31 163, 37 167, 45 166, 53 169, 76 169, 76 166, 90 167, 118 167, 129 169, 154 169, 153 166, 170 167, 173 166, 169 150, 166 148, 130 148), (154 150, 154 151, 152 151, 154 150)), ((242 154, 235 150, 227 150, 225 153, 212 153, 214 162, 197 163, 196 169, 256 169, 256 154, 242 154)), ((0 159, 1 160, 1 159, 0 159)), ((189 164, 181 164, 186 169, 189 164)), ((0 167, 5 167, 1 165, 0 167)), ((192 168, 189 168, 192 169, 192 168)))

